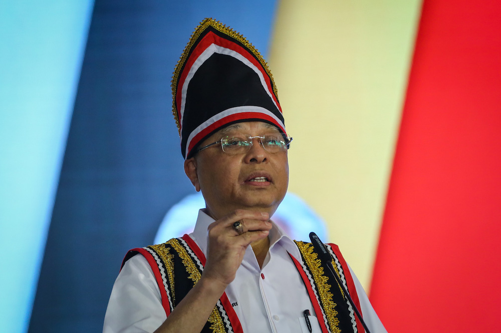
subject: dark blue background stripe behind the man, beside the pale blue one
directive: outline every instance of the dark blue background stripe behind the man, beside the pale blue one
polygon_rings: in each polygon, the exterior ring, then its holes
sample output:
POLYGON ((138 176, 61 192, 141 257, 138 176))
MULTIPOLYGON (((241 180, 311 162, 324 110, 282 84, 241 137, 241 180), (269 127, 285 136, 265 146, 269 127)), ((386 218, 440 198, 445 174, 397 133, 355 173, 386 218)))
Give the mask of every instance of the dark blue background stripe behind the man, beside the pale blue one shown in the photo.
POLYGON ((30 332, 101 331, 127 249, 192 193, 170 80, 212 16, 266 55, 273 1, 95 2, 30 332))

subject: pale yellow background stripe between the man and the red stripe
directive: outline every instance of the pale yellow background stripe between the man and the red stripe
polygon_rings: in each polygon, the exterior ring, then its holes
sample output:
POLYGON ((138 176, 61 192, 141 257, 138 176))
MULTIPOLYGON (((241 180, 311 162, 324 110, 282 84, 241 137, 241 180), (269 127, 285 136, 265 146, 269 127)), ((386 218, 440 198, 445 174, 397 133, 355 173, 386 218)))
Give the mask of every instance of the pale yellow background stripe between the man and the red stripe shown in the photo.
POLYGON ((279 4, 269 63, 288 132, 289 191, 327 222, 368 288, 421 1, 279 4))

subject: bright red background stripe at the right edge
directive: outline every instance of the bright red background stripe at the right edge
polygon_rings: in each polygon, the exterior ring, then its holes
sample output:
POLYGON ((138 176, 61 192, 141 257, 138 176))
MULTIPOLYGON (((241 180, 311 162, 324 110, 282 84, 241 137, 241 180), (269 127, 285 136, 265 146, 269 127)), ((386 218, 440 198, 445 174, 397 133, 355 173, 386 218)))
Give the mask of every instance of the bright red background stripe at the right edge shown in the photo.
POLYGON ((371 285, 390 332, 501 331, 501 1, 423 2, 371 285))

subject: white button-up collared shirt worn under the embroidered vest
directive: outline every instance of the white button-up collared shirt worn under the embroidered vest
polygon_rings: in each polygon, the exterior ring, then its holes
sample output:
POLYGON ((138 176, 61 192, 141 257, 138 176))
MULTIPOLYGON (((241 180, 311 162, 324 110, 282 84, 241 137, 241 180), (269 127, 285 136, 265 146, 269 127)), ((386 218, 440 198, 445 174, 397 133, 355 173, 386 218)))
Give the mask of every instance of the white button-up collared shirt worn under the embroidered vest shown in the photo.
MULTIPOLYGON (((190 237, 207 253, 207 227, 214 219, 202 210, 190 237)), ((248 246, 235 279, 226 287, 244 332, 309 332, 303 311, 308 309, 313 332, 320 332, 306 287, 288 252, 301 253, 294 241, 276 224, 269 234, 270 249, 260 268, 252 247, 248 246)), ((351 268, 350 268, 351 271, 351 268)), ((356 276, 364 319, 372 332, 386 332, 356 276)), ((160 290, 153 271, 142 255, 125 263, 111 292, 104 321, 104 333, 152 332, 166 319, 160 290)))

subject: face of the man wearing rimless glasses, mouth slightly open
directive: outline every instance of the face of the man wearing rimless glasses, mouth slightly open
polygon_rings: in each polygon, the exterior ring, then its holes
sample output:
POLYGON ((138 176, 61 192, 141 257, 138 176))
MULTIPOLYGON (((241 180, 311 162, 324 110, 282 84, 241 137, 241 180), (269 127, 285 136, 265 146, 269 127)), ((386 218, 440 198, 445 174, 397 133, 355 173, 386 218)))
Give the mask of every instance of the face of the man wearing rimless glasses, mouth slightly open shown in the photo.
MULTIPOLYGON (((217 131, 200 146, 223 136, 275 132, 279 132, 277 128, 266 122, 240 122, 217 131)), ((184 165, 195 188, 202 191, 207 212, 215 219, 235 209, 260 210, 272 215, 289 184, 287 151, 270 153, 259 138, 254 139, 246 153, 229 155, 222 151, 220 144, 215 144, 187 159, 184 165)))

